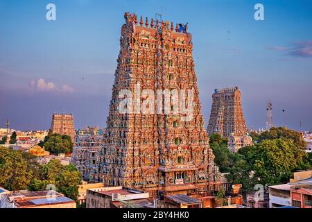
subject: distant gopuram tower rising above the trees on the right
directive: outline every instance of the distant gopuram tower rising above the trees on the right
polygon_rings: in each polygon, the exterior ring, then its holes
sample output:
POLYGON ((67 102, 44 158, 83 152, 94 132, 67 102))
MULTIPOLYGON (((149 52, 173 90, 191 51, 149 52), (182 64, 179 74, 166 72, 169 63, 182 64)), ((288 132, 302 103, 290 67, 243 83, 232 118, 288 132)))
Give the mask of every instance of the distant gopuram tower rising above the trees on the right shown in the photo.
POLYGON ((207 131, 223 137, 243 137, 247 133, 239 87, 214 90, 207 131))

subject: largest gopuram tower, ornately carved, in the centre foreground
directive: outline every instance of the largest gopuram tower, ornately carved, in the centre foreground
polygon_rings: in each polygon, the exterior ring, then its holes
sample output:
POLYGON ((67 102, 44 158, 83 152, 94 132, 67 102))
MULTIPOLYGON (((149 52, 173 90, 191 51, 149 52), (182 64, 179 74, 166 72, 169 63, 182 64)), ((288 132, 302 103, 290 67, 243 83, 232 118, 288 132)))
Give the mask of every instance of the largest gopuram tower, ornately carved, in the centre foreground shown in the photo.
POLYGON ((125 13, 97 180, 144 189, 153 197, 218 189, 220 173, 202 117, 191 40, 187 25, 174 28, 173 23, 149 23, 142 17, 139 22, 137 15, 125 13), (124 89, 132 95, 142 92, 125 105, 133 112, 120 110, 124 89), (154 112, 137 112, 137 103, 146 101, 146 89, 154 93, 149 99, 155 103, 146 106, 154 112), (173 96, 175 90, 187 95, 188 114, 176 112, 173 103, 182 99, 173 96), (170 92, 169 100, 165 92, 170 92))

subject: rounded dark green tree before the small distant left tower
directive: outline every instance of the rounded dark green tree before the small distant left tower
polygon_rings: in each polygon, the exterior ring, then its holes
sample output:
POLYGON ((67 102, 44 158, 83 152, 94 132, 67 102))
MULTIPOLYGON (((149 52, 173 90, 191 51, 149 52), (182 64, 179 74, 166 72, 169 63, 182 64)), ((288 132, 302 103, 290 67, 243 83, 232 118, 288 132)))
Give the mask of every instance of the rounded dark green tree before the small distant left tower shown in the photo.
POLYGON ((53 134, 44 138, 44 148, 51 153, 71 153, 73 151, 73 142, 67 135, 53 134))

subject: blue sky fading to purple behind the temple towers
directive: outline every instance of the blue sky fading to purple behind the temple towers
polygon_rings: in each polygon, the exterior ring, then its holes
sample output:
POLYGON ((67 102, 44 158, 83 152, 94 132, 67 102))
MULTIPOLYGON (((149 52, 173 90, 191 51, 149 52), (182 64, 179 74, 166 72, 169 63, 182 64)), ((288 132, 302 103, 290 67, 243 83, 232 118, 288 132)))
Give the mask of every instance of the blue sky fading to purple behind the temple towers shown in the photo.
POLYGON ((265 128, 269 99, 277 126, 312 128, 312 2, 239 0, 0 0, 0 128, 47 129, 53 112, 105 127, 125 11, 189 22, 206 123, 213 90, 238 85, 249 128, 265 128))

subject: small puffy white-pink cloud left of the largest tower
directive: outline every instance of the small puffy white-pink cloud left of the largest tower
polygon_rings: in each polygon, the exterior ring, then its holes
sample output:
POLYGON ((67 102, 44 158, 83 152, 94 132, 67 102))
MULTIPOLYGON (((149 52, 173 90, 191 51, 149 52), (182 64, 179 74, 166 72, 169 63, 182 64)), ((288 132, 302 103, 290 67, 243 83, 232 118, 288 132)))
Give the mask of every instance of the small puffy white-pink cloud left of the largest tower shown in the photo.
POLYGON ((57 85, 55 85, 55 83, 48 82, 44 80, 44 78, 40 78, 37 80, 37 82, 35 80, 31 80, 29 85, 32 89, 37 89, 40 91, 73 92, 73 87, 70 87, 69 85, 64 84, 59 88, 57 85))

